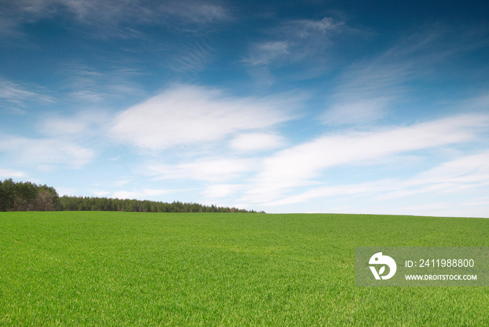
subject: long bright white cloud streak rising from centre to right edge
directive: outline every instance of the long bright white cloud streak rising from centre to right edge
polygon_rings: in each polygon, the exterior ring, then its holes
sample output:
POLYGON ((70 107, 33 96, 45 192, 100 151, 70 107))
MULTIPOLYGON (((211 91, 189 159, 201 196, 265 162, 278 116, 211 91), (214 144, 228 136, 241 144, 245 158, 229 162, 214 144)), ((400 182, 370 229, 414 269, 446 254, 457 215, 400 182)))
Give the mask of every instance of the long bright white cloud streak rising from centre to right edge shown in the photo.
POLYGON ((379 163, 402 152, 466 142, 488 122, 487 115, 461 115, 413 126, 321 136, 265 159, 242 201, 275 201, 285 191, 312 184, 326 168, 379 163))

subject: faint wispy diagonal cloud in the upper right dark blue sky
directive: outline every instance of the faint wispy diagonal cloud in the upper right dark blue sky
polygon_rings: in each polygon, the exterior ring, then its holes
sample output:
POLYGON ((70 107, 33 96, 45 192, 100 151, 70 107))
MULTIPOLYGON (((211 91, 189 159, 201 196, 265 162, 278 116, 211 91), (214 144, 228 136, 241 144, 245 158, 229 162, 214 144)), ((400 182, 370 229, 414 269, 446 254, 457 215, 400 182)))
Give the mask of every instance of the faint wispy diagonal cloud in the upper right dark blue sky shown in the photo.
MULTIPOLYGON (((481 48, 485 43, 473 34, 471 29, 425 27, 377 56, 356 61, 340 76, 323 122, 359 124, 387 117, 409 103, 413 92, 421 93, 413 83, 435 78, 453 58, 481 48)), ((430 87, 438 91, 437 83, 430 87)))

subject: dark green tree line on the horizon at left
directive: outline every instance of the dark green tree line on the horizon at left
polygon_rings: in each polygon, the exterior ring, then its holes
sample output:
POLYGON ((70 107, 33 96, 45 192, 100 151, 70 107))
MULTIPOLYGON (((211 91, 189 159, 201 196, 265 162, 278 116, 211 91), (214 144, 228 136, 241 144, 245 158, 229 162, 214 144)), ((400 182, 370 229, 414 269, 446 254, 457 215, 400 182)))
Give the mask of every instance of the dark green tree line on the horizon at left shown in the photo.
POLYGON ((161 201, 59 196, 54 187, 0 180, 0 211, 256 212, 238 208, 161 201))

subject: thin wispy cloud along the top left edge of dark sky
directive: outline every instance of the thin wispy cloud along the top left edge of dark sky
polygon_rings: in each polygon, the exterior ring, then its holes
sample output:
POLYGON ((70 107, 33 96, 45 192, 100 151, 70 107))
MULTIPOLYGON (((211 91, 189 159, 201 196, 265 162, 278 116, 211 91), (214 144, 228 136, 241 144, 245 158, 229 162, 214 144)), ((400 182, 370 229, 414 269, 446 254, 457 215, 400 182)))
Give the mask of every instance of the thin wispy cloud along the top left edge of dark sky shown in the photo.
POLYGON ((19 34, 20 25, 57 15, 94 27, 98 31, 93 35, 124 38, 141 36, 137 28, 141 24, 167 24, 170 18, 175 24, 198 25, 231 19, 226 8, 208 1, 164 1, 154 6, 152 1, 139 0, 18 0, 3 10, 0 24, 6 31, 0 36, 19 34))

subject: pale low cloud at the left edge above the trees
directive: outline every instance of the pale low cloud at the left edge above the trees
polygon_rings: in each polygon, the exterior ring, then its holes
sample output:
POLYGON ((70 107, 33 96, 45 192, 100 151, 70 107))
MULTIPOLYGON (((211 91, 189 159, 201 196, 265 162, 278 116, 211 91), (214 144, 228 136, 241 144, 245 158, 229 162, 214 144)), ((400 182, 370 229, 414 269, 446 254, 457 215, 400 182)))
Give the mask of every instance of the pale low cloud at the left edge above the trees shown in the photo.
POLYGON ((54 138, 22 138, 2 136, 0 151, 7 152, 13 160, 23 166, 38 169, 50 169, 54 166, 68 166, 78 169, 94 158, 90 149, 71 143, 68 140, 54 138))

